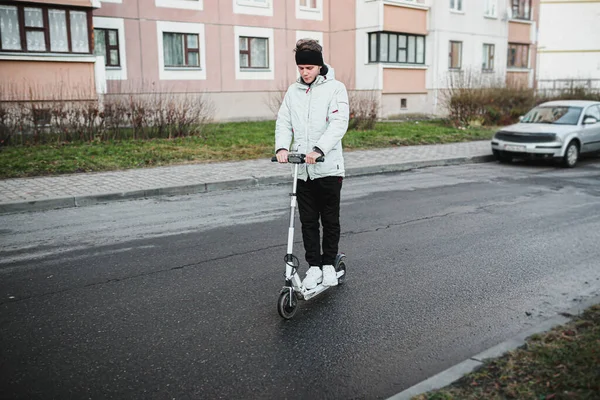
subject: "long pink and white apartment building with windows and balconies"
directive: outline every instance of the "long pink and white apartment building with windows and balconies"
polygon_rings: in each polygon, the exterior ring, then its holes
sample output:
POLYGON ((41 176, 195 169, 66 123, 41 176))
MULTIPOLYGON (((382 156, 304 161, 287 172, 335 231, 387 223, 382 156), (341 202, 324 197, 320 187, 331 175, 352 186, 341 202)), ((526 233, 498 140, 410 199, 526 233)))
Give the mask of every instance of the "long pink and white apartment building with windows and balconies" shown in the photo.
POLYGON ((218 120, 273 118, 309 37, 383 117, 441 113, 453 75, 534 85, 539 1, 0 1, 0 86, 40 100, 202 92, 218 120))

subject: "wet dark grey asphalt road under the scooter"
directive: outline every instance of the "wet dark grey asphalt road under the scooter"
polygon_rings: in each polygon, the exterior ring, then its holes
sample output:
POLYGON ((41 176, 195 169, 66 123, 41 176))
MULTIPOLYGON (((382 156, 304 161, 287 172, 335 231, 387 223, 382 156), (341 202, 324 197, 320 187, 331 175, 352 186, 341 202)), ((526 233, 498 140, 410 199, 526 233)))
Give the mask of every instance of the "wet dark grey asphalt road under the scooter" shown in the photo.
POLYGON ((599 182, 597 159, 347 179, 347 281, 290 321, 287 186, 2 215, 0 397, 387 398, 600 293, 599 182))

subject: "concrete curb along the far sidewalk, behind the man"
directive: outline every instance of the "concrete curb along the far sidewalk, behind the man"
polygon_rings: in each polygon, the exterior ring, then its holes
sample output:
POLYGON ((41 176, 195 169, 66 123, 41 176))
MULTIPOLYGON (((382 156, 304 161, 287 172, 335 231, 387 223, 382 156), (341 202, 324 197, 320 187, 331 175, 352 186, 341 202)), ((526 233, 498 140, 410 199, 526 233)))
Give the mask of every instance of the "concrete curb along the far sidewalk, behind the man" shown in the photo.
MULTIPOLYGON (((475 157, 457 157, 431 161, 416 161, 398 164, 378 165, 369 167, 348 168, 347 177, 358 177, 367 175, 378 175, 384 173, 396 173, 410 171, 413 169, 427 167, 441 167, 446 165, 475 164, 493 161, 492 155, 475 157)), ((85 207, 95 204, 108 203, 111 201, 123 201, 133 199, 145 199, 157 196, 180 196, 196 193, 207 193, 219 190, 240 189, 253 186, 279 185, 290 181, 289 174, 274 175, 268 177, 251 177, 229 181, 198 183, 184 186, 171 186, 155 189, 133 190, 128 192, 90 194, 82 196, 67 196, 48 198, 43 200, 20 201, 14 203, 0 204, 1 214, 13 214, 31 211, 47 211, 60 208, 85 207)))

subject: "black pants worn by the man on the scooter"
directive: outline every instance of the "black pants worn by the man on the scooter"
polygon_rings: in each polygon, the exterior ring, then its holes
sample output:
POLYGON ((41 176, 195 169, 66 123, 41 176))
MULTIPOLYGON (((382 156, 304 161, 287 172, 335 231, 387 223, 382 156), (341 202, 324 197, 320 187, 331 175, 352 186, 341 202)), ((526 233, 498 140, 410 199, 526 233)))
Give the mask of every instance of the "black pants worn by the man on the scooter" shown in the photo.
POLYGON ((340 193, 342 177, 298 179, 298 211, 306 262, 310 266, 333 265, 340 242, 340 193), (319 219, 323 225, 323 255, 319 219))

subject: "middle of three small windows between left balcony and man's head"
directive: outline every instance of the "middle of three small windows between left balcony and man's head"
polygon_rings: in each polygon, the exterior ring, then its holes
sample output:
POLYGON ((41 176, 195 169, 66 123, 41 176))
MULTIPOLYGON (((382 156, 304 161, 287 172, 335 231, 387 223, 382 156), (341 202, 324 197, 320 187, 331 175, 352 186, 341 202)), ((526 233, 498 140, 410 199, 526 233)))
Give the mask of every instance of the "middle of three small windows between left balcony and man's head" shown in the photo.
POLYGON ((163 32, 165 67, 200 67, 200 41, 195 33, 163 32))

